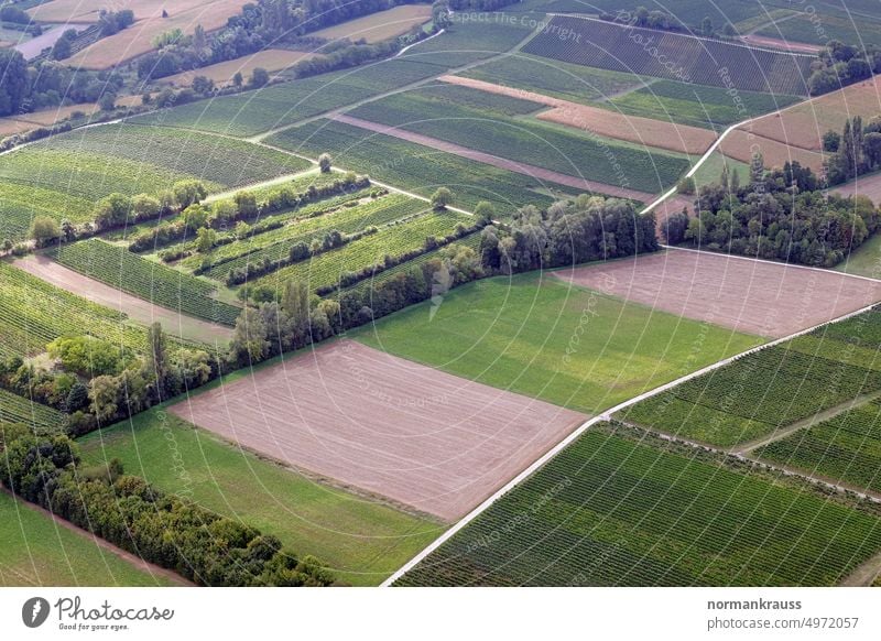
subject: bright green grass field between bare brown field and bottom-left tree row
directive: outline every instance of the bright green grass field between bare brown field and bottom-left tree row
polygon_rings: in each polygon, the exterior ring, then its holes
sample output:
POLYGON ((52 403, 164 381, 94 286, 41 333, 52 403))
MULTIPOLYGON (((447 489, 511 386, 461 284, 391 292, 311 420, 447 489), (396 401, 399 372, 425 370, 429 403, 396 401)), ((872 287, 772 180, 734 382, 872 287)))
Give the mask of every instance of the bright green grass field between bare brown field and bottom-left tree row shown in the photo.
POLYGON ((274 534, 352 585, 378 585, 444 526, 316 482, 162 410, 80 439, 83 458, 119 458, 129 474, 274 534))

